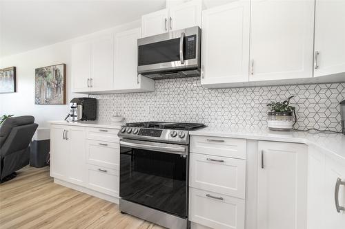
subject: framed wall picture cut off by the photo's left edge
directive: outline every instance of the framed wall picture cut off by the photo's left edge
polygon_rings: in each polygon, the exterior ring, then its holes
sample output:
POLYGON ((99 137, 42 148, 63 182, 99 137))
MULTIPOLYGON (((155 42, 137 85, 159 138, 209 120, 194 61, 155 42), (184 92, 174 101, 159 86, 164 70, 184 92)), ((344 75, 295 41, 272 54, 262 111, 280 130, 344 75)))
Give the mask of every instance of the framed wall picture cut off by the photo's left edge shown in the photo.
POLYGON ((16 92, 16 67, 0 69, 0 93, 16 92))

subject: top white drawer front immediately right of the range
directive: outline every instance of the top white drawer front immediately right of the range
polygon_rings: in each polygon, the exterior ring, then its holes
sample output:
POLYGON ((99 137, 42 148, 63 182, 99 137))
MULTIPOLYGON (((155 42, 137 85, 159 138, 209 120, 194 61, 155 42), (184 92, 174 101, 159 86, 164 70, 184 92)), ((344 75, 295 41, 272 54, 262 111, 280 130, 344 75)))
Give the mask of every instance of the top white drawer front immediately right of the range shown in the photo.
POLYGON ((190 152, 245 159, 246 140, 235 138, 191 136, 190 152))

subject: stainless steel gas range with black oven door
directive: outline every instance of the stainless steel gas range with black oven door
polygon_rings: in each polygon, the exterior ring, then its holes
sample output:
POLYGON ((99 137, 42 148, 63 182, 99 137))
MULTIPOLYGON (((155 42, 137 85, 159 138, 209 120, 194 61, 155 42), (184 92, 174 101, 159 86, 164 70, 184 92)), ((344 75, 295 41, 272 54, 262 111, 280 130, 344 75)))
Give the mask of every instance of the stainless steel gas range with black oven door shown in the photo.
POLYGON ((121 212, 166 228, 189 228, 189 131, 203 127, 177 122, 121 127, 121 212))

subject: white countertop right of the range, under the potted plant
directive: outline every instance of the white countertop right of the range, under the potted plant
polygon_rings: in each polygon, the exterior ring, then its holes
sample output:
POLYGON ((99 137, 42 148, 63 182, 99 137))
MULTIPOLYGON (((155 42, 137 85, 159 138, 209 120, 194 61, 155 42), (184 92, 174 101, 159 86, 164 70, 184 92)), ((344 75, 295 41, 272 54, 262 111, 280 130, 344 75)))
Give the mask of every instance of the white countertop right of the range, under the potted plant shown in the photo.
POLYGON ((265 140, 276 142, 292 142, 314 145, 318 148, 342 157, 345 160, 345 135, 342 133, 313 133, 302 131, 270 131, 262 129, 230 129, 206 127, 190 131, 190 135, 210 137, 243 138, 248 140, 265 140))

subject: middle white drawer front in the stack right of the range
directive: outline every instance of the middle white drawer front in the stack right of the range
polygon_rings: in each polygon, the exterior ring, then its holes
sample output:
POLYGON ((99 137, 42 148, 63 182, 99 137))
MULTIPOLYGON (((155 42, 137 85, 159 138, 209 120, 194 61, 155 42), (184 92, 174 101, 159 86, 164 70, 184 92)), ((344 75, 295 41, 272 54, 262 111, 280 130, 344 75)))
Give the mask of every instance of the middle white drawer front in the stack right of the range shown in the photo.
POLYGON ((246 160, 190 153, 190 186, 244 199, 246 160))

